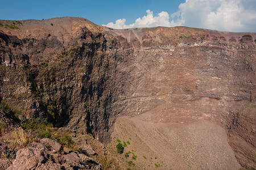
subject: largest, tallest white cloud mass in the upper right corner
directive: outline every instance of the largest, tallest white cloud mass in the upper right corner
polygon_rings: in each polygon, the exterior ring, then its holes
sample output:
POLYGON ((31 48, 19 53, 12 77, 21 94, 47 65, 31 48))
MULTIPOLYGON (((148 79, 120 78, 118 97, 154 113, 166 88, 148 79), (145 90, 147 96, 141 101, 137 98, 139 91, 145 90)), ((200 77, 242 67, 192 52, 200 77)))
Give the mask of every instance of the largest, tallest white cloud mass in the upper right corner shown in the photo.
POLYGON ((176 22, 221 31, 255 31, 256 10, 250 7, 255 6, 253 1, 187 0, 180 4, 176 22))

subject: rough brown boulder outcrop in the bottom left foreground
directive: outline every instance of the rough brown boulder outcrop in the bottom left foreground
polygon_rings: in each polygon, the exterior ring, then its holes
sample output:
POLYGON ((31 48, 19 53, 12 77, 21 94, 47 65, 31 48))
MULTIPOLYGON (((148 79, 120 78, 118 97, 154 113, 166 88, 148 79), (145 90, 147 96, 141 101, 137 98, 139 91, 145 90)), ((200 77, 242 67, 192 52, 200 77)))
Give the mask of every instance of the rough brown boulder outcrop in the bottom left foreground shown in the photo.
MULTIPOLYGON (((52 139, 41 139, 40 142, 48 143, 48 148, 43 143, 32 142, 26 148, 20 148, 16 152, 16 157, 11 163, 11 159, 1 159, 0 165, 7 169, 102 169, 101 164, 92 158, 76 151, 69 153, 56 150, 56 146, 61 146, 52 139), (53 145, 52 145, 53 144, 53 145)), ((59 148, 59 147, 57 147, 59 148)), ((62 146, 61 146, 62 148, 62 146)))

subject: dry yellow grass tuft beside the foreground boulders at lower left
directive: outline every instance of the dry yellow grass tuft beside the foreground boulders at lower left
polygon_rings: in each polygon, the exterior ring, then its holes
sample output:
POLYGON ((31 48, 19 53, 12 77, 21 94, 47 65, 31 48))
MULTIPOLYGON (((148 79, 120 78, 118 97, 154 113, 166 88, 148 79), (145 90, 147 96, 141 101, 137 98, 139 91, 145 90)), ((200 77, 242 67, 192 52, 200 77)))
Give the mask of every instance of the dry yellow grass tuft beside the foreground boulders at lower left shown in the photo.
POLYGON ((14 139, 13 146, 18 148, 26 147, 28 143, 36 140, 22 128, 14 130, 12 135, 14 139))

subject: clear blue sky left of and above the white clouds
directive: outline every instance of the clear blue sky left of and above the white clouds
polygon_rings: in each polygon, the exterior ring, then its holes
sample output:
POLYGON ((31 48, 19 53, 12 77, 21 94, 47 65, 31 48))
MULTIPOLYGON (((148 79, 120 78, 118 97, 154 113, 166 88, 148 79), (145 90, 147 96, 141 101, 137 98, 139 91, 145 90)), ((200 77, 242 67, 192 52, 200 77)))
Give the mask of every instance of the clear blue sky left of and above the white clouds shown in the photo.
POLYGON ((139 16, 146 14, 146 10, 156 13, 167 11, 173 13, 184 1, 166 0, 130 0, 130 1, 2 1, 0 19, 48 19, 60 16, 79 16, 102 25, 119 18, 126 18, 127 23, 133 22, 139 16))

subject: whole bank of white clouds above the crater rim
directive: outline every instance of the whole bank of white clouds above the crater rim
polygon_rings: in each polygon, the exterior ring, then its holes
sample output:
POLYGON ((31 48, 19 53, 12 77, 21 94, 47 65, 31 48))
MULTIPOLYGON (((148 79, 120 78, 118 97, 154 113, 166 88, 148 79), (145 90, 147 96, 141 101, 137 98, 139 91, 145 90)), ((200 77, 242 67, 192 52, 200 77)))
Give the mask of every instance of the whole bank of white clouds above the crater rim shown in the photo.
POLYGON ((256 31, 255 0, 186 0, 179 10, 169 15, 162 11, 156 16, 147 10, 147 15, 126 25, 126 19, 118 19, 105 26, 122 29, 134 27, 188 27, 217 29, 220 31, 256 31))

